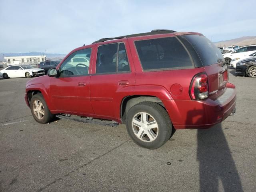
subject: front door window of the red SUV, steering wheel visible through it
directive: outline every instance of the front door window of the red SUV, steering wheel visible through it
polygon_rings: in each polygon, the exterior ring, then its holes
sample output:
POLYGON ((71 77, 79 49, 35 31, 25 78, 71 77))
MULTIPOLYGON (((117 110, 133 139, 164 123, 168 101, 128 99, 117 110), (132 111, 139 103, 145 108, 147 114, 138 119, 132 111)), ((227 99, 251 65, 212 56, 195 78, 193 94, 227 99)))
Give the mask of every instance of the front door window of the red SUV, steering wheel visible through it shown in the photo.
POLYGON ((60 66, 60 77, 88 74, 91 48, 72 53, 60 66))

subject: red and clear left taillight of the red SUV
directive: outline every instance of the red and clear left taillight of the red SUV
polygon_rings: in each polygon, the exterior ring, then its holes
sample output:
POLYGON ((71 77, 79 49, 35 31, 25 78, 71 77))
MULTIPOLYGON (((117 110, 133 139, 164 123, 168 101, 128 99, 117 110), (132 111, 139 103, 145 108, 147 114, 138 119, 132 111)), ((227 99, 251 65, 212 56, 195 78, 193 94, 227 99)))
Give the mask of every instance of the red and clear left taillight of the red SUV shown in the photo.
POLYGON ((208 77, 205 73, 200 73, 194 76, 190 83, 189 93, 190 97, 194 100, 208 98, 208 77))

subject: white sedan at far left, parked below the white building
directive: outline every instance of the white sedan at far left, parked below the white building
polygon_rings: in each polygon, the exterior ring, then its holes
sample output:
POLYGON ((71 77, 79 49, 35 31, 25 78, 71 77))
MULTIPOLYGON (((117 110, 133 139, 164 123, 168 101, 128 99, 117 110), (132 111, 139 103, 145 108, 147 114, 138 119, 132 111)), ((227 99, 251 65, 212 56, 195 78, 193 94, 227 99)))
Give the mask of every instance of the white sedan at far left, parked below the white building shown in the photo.
POLYGON ((3 78, 9 78, 9 77, 27 77, 30 78, 32 76, 42 76, 45 72, 43 69, 33 68, 29 65, 13 65, 8 66, 5 69, 0 70, 0 75, 3 78))

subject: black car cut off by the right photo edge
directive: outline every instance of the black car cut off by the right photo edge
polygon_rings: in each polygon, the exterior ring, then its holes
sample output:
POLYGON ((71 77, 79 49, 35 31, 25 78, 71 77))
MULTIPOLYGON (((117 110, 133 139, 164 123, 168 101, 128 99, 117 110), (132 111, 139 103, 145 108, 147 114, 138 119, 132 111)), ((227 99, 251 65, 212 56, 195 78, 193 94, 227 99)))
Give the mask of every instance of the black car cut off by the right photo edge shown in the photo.
POLYGON ((236 74, 256 77, 256 57, 244 59, 236 64, 236 74))

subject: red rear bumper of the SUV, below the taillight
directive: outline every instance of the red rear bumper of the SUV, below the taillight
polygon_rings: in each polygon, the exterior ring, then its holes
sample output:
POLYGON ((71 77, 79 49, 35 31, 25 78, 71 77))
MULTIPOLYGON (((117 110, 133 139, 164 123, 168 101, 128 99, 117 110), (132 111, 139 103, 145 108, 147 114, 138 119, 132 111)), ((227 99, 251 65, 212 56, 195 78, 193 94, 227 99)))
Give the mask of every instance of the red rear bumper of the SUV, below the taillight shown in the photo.
POLYGON ((236 107, 236 89, 228 83, 217 100, 164 100, 175 129, 210 128, 226 119, 236 107))

